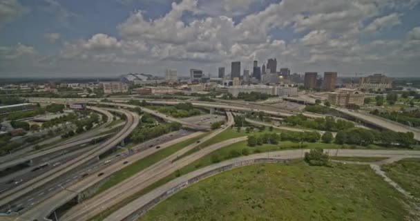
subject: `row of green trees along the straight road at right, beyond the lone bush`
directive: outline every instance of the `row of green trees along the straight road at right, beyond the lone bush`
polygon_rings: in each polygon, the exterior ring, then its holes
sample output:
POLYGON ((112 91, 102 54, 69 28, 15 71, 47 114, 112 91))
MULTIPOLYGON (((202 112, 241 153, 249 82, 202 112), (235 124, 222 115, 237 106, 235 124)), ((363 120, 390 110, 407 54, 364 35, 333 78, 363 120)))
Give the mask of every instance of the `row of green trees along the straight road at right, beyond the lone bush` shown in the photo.
POLYGON ((370 144, 397 145, 410 148, 415 143, 413 133, 397 133, 393 131, 371 131, 363 128, 350 128, 339 131, 335 137, 336 144, 355 144, 367 146, 370 144))

